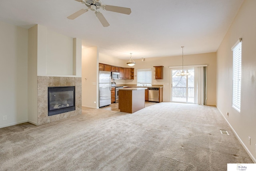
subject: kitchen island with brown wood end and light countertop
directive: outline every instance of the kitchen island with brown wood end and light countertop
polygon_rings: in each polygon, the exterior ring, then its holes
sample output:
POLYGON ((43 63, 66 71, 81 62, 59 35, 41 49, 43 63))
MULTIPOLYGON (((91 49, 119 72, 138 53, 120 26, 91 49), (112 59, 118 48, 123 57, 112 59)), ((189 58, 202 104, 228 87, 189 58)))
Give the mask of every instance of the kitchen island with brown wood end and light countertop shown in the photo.
POLYGON ((119 89, 118 109, 121 112, 134 113, 145 108, 144 87, 129 87, 119 89))

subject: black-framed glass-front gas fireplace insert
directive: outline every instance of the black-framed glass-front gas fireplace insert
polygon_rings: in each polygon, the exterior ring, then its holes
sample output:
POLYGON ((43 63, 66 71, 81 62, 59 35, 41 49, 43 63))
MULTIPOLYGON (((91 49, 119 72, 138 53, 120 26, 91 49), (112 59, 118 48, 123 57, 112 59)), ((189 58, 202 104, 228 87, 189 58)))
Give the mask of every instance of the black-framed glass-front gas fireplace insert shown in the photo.
POLYGON ((75 110, 75 86, 48 87, 48 116, 75 110))

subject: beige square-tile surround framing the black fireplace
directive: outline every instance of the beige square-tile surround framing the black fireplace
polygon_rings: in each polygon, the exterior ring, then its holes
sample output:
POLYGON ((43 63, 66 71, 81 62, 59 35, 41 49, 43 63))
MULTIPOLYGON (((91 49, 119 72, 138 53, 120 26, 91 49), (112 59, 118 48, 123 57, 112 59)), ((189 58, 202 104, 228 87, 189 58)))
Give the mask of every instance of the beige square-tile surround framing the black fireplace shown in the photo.
POLYGON ((82 114, 82 78, 78 77, 37 77, 38 125, 66 119, 82 114), (48 116, 48 87, 75 86, 76 110, 48 116))

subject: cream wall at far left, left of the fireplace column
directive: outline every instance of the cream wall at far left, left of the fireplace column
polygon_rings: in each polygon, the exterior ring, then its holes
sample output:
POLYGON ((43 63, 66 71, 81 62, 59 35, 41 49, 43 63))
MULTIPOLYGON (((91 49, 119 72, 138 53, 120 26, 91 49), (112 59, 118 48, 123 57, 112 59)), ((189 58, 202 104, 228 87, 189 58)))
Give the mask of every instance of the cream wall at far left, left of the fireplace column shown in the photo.
POLYGON ((0 127, 6 127, 28 120, 28 30, 3 22, 0 30, 0 127))

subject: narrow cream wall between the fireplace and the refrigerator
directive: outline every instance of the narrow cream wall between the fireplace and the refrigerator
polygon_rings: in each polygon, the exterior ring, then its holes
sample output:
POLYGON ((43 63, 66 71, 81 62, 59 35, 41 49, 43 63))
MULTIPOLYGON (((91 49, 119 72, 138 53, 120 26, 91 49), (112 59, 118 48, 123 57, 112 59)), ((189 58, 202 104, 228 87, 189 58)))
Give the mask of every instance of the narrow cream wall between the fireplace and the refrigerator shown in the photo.
POLYGON ((82 106, 98 108, 98 59, 97 47, 82 49, 82 106), (94 101, 96 103, 94 103, 94 101))

